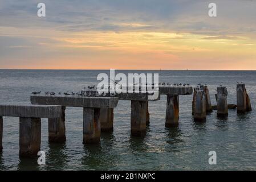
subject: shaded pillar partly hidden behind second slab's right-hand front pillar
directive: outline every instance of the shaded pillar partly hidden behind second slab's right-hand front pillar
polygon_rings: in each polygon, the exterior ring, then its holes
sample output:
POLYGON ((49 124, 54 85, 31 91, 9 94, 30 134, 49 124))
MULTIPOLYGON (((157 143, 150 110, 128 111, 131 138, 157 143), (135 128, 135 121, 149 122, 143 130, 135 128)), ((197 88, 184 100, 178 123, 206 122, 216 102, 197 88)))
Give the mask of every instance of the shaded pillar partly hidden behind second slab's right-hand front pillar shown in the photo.
POLYGON ((113 108, 100 109, 100 127, 101 131, 113 131, 113 108))

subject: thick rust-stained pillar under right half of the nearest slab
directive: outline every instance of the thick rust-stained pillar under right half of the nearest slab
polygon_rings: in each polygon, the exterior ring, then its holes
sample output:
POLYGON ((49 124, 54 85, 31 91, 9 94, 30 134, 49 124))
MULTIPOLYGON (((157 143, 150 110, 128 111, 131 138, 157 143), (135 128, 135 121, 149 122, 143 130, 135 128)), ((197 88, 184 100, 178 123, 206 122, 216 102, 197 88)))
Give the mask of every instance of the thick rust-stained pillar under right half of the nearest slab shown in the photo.
POLYGON ((41 119, 19 117, 19 155, 36 156, 41 144, 41 119))

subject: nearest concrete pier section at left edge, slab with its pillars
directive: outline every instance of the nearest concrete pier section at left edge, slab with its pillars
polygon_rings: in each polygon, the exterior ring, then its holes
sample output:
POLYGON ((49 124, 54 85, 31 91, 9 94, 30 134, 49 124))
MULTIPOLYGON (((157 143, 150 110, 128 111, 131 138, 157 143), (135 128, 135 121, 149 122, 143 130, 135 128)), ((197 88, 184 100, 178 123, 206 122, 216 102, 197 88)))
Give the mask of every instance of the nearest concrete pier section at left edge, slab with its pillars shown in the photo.
POLYGON ((41 118, 60 118, 61 106, 0 105, 0 151, 2 150, 3 116, 19 117, 19 155, 35 156, 40 151, 41 118))

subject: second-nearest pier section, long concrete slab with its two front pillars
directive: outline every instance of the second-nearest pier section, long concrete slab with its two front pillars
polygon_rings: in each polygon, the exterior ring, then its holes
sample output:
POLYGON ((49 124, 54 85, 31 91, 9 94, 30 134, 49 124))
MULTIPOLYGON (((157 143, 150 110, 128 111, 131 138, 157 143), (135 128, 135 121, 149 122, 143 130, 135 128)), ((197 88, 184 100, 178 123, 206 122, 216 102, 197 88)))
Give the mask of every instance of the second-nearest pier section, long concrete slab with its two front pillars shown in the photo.
POLYGON ((66 139, 64 108, 83 107, 83 143, 98 143, 100 142, 101 130, 100 108, 113 109, 117 106, 119 99, 117 97, 31 96, 30 101, 31 104, 60 105, 63 108, 61 120, 49 119, 48 121, 50 142, 59 142, 66 139))

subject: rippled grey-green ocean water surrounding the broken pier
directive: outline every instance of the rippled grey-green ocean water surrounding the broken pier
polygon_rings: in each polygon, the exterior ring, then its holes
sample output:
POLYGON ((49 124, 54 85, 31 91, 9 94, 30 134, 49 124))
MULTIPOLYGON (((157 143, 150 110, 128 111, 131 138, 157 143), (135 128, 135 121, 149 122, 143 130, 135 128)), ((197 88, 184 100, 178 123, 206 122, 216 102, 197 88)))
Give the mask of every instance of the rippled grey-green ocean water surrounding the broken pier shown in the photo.
MULTIPOLYGON (((19 159, 19 118, 3 117, 3 152, 0 170, 255 170, 256 71, 116 71, 159 73, 160 82, 207 84, 213 105, 217 86, 226 86, 229 104, 236 104, 237 81, 246 84, 253 111, 226 119, 216 110, 206 122, 194 122, 192 95, 180 96, 179 126, 165 128, 166 96, 149 102, 150 125, 145 137, 131 137, 131 101, 119 101, 112 133, 101 133, 100 144, 83 145, 83 109, 66 109, 66 143, 48 143, 47 119, 42 119, 41 150, 46 165, 37 158, 19 159), (216 151, 217 164, 208 155, 216 151)), ((30 104, 34 91, 78 92, 96 85, 99 73, 109 70, 0 70, 1 104, 30 104)))

